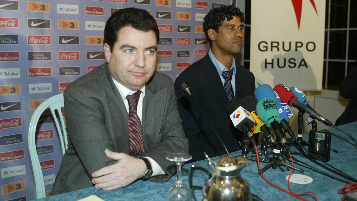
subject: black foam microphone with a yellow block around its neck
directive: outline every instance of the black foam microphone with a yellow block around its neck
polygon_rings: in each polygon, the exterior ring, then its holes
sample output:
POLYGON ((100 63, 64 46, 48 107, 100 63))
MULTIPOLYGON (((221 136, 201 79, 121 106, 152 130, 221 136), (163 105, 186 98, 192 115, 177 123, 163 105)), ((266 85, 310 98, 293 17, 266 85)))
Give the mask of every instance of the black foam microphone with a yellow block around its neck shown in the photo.
POLYGON ((247 110, 252 111, 250 114, 255 121, 255 125, 252 127, 253 133, 262 132, 263 136, 273 144, 275 142, 273 134, 271 133, 267 124, 260 119, 256 111, 256 105, 258 103, 257 99, 255 99, 252 95, 247 95, 242 98, 242 101, 245 104, 247 110))

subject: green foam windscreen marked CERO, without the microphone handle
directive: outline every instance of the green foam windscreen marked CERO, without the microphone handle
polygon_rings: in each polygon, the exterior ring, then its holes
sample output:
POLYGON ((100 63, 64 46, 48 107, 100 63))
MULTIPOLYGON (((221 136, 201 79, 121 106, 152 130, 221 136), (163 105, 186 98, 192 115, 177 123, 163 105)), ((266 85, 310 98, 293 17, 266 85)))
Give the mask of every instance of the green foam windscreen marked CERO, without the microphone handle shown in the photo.
POLYGON ((264 98, 259 100, 259 102, 257 103, 257 113, 260 119, 264 123, 268 124, 269 127, 271 127, 270 124, 274 120, 280 123, 280 114, 278 106, 271 98, 264 98))

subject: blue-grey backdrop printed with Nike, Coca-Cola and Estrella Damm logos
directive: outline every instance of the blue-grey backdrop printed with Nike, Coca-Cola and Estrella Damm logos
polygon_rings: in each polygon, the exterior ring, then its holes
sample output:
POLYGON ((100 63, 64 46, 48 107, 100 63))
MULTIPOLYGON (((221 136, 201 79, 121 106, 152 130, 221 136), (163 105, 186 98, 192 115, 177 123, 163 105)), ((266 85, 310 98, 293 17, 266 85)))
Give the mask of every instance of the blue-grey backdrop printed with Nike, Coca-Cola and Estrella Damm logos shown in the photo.
MULTIPOLYGON (((0 200, 34 199, 27 128, 47 98, 105 62, 103 31, 114 11, 147 9, 157 20, 157 71, 172 79, 209 49, 208 11, 231 0, 0 0, 0 200)), ((320 16, 324 14, 319 13, 320 16)), ((53 119, 44 113, 36 145, 47 195, 61 163, 53 119)))

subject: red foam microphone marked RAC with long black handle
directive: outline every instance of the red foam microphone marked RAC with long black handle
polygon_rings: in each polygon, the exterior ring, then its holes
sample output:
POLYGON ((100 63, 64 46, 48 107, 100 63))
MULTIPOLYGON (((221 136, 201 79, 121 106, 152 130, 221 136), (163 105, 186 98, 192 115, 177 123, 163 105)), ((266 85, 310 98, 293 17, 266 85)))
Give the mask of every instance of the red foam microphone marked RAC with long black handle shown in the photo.
POLYGON ((274 87, 274 90, 276 91, 276 93, 279 94, 282 103, 287 103, 289 106, 296 107, 297 109, 299 109, 299 111, 310 114, 310 116, 312 116, 313 118, 317 119, 318 121, 324 123, 326 126, 333 127, 333 123, 330 122, 328 119, 323 117, 321 114, 317 113, 315 110, 313 110, 313 109, 309 108, 308 106, 305 106, 303 103, 299 102, 297 100, 297 97, 291 91, 291 89, 289 87, 287 87, 286 85, 277 84, 274 87))

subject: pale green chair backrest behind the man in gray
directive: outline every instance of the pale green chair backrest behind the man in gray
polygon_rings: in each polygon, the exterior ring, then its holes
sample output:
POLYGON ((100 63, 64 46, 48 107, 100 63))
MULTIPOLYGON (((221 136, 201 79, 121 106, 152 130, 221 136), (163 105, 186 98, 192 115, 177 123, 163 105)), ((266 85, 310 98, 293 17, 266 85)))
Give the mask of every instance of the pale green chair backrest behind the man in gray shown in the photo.
POLYGON ((67 149, 67 132, 66 132, 64 119, 62 116, 62 111, 61 111, 62 107, 64 107, 63 94, 54 95, 40 104, 40 106, 35 110, 30 120, 29 133, 28 133, 28 147, 30 153, 32 172, 34 174, 34 182, 35 182, 35 189, 36 189, 35 199, 46 197, 45 183, 43 180, 40 160, 37 155, 36 143, 35 143, 37 122, 39 121, 41 114, 47 108, 49 108, 56 125, 57 133, 59 134, 62 156, 63 156, 67 149), (57 111, 58 113, 60 122, 57 120, 55 111, 57 111))

